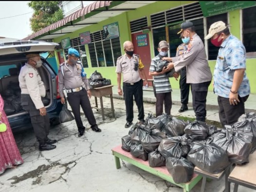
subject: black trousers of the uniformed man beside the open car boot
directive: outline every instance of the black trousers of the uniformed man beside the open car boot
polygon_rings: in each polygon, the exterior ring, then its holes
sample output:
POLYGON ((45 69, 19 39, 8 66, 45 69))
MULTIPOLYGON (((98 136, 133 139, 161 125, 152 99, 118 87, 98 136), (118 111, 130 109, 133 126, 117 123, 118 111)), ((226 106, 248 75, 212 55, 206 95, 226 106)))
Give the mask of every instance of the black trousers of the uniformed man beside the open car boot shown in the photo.
POLYGON ((45 140, 49 135, 50 120, 46 113, 45 116, 40 115, 40 111, 36 108, 31 97, 28 94, 21 94, 21 106, 23 110, 29 113, 31 124, 33 126, 37 141, 39 144, 45 144, 45 140))

